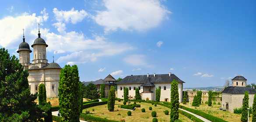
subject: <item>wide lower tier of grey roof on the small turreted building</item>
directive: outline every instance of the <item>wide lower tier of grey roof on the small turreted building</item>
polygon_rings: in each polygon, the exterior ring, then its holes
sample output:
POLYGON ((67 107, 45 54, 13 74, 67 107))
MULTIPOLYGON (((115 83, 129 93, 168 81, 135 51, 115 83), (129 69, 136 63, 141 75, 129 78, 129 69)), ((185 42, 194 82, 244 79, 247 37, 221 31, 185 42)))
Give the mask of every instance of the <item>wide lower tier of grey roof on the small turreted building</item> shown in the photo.
POLYGON ((251 87, 226 87, 222 93, 245 94, 245 91, 248 91, 249 94, 256 94, 256 91, 251 87))

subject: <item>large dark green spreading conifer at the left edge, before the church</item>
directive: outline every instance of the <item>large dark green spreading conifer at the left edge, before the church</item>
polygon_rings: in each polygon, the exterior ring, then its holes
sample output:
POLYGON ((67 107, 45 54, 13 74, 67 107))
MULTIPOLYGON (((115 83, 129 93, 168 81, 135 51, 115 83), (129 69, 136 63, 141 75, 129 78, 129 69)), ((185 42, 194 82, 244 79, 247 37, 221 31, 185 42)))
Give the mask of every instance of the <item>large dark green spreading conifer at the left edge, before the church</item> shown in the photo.
POLYGON ((36 105, 28 87, 28 70, 4 48, 0 49, 0 121, 43 122, 49 105, 36 105))

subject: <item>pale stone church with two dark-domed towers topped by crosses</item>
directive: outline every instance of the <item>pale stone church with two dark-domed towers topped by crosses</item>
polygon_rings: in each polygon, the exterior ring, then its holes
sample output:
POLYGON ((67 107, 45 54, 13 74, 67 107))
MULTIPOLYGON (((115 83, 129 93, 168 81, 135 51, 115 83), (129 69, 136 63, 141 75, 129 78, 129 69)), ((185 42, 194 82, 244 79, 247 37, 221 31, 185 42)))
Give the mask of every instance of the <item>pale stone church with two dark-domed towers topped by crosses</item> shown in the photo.
POLYGON ((38 92, 40 84, 46 85, 46 97, 47 98, 59 98, 58 87, 60 82, 61 67, 58 63, 48 63, 46 59, 46 48, 48 45, 45 40, 41 38, 40 31, 38 38, 35 39, 33 45, 33 60, 30 63, 30 47, 25 42, 24 30, 23 30, 23 42, 19 45, 18 53, 20 63, 24 66, 25 70, 28 70, 28 84, 31 94, 38 92))

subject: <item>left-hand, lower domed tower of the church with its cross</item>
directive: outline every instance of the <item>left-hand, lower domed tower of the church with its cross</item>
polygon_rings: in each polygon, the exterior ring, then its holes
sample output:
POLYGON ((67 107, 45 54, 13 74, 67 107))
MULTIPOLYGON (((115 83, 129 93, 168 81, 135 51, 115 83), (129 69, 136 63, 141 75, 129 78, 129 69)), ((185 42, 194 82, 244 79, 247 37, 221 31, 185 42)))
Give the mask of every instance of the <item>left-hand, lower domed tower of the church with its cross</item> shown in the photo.
POLYGON ((28 70, 28 65, 30 65, 30 52, 27 42, 25 42, 24 29, 23 29, 23 42, 19 45, 17 51, 19 53, 20 63, 24 66, 24 70, 28 70))

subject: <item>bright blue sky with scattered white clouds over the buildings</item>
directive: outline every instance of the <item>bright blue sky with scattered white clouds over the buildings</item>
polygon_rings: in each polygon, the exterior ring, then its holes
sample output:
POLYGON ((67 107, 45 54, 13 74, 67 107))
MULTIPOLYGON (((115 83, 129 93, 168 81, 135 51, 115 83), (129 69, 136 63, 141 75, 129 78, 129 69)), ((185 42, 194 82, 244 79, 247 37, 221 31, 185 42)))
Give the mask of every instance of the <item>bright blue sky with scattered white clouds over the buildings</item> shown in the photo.
POLYGON ((18 57, 22 29, 31 46, 39 23, 48 62, 77 65, 80 81, 171 72, 184 88, 223 86, 237 75, 251 84, 255 13, 255 0, 7 0, 0 48, 18 57))

